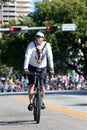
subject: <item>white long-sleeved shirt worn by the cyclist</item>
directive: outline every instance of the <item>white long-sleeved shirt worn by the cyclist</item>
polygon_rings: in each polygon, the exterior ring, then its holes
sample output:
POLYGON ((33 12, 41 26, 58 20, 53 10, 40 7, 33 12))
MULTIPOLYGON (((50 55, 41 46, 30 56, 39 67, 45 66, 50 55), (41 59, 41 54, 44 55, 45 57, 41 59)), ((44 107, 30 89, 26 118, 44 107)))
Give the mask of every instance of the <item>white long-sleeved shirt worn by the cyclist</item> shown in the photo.
MULTIPOLYGON (((43 43, 41 45, 37 45, 38 49, 42 49, 45 45, 46 41, 43 41, 43 43)), ((34 42, 30 42, 28 44, 28 47, 26 49, 25 52, 25 59, 24 59, 24 69, 28 69, 29 64, 37 67, 37 68, 43 68, 47 66, 47 59, 48 59, 48 63, 49 63, 49 67, 53 68, 54 64, 53 64, 53 54, 52 54, 52 49, 49 43, 46 43, 46 46, 44 47, 41 57, 43 57, 43 60, 41 61, 41 63, 37 63, 36 62, 36 58, 38 58, 38 54, 37 54, 37 49, 35 47, 34 42)))

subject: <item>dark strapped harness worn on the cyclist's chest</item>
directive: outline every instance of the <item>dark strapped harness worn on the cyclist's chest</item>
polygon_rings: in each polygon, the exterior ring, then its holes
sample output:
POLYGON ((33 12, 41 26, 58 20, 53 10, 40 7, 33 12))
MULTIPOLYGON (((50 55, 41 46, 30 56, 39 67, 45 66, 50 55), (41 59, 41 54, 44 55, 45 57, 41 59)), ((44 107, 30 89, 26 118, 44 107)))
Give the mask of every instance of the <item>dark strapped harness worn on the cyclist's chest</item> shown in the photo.
POLYGON ((34 45, 35 45, 36 51, 37 51, 37 55, 38 55, 38 57, 35 57, 35 60, 36 60, 36 62, 37 62, 38 64, 40 64, 40 63, 42 62, 42 60, 44 59, 44 57, 45 57, 45 55, 46 55, 46 52, 43 54, 43 50, 44 50, 46 44, 47 44, 47 43, 44 44, 44 46, 43 46, 42 49, 38 49, 36 43, 34 42, 34 45), (42 56, 41 56, 41 55, 42 55, 42 56))

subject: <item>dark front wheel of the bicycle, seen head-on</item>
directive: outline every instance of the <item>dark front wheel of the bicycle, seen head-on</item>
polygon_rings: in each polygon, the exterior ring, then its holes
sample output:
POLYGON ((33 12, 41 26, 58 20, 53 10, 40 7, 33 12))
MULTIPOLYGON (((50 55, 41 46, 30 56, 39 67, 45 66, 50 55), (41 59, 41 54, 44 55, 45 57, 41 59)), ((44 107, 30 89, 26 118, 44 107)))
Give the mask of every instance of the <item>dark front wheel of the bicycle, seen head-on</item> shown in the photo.
POLYGON ((38 90, 38 94, 36 97, 36 123, 40 122, 40 115, 41 115, 41 92, 38 90))

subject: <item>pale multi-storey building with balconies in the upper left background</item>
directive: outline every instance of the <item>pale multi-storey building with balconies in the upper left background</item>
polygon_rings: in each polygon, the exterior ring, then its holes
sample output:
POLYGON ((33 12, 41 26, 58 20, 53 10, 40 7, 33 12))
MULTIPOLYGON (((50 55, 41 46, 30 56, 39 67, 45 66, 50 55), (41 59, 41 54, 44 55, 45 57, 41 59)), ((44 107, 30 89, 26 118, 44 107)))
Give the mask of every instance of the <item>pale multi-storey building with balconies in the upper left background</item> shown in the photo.
POLYGON ((20 16, 28 15, 32 9, 32 0, 0 0, 0 25, 7 24, 9 20, 18 21, 20 16))

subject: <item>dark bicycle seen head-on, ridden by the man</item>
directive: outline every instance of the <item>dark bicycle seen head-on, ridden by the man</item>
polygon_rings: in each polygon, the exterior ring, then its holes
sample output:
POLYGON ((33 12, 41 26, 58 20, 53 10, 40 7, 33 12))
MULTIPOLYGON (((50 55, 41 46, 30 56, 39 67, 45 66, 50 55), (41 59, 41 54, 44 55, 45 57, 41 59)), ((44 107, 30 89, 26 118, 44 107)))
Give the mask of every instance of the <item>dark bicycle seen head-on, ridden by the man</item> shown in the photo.
POLYGON ((41 87, 40 87, 40 81, 43 76, 46 76, 46 74, 41 75, 37 72, 29 72, 29 74, 35 75, 35 88, 34 88, 34 94, 33 94, 33 116, 34 121, 36 123, 40 122, 40 115, 41 115, 41 87))

